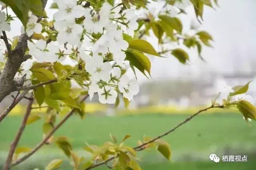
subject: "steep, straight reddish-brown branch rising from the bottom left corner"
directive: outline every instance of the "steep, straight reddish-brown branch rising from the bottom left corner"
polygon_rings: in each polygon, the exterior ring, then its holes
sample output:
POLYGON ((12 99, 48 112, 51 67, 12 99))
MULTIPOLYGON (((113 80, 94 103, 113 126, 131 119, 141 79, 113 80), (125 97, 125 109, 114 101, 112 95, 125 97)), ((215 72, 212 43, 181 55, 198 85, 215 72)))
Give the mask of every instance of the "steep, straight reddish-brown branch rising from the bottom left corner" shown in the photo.
POLYGON ((29 100, 28 106, 27 106, 27 109, 26 109, 26 113, 23 117, 22 123, 20 125, 20 129, 18 130, 18 133, 16 134, 16 137, 15 137, 15 139, 14 139, 14 141, 13 141, 11 147, 10 147, 10 150, 9 150, 6 162, 4 164, 3 170, 10 170, 10 168, 11 168, 12 157, 13 157, 14 151, 15 151, 17 145, 18 145, 18 142, 20 141, 20 137, 21 137, 21 135, 22 135, 22 133, 23 133, 25 127, 26 127, 26 122, 28 120, 28 116, 31 113, 32 104, 33 104, 33 100, 29 100))

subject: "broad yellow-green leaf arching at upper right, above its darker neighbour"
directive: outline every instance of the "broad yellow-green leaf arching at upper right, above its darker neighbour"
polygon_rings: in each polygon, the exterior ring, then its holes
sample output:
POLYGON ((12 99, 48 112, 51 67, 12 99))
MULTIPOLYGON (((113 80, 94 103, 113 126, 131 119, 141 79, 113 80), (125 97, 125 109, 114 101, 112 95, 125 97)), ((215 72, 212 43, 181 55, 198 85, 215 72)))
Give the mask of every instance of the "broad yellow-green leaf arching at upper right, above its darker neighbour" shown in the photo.
POLYGON ((178 33, 182 32, 182 23, 178 18, 170 17, 168 15, 160 15, 159 18, 170 27, 175 29, 178 33))

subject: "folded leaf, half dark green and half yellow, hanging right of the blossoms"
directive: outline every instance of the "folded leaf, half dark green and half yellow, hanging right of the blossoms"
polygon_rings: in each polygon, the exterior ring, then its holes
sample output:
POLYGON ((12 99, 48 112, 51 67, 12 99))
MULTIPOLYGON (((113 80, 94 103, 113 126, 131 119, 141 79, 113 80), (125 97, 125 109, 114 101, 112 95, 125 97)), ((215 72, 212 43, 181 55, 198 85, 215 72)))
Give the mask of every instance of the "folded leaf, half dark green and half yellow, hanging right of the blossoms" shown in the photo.
POLYGON ((142 72, 145 76, 145 70, 150 74, 151 62, 146 55, 143 53, 133 50, 126 52, 126 60, 130 61, 130 63, 138 68, 140 72, 142 72))

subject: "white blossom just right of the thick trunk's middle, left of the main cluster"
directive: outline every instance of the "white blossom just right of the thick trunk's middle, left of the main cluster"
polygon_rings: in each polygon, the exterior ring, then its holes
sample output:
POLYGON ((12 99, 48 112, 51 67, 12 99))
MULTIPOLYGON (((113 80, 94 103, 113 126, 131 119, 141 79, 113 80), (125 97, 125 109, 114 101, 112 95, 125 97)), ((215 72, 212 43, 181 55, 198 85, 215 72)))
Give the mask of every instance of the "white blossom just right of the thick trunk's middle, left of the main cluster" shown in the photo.
POLYGON ((28 41, 28 53, 35 57, 36 61, 42 63, 45 61, 46 52, 44 49, 46 48, 46 41, 40 39, 36 43, 32 43, 28 41))

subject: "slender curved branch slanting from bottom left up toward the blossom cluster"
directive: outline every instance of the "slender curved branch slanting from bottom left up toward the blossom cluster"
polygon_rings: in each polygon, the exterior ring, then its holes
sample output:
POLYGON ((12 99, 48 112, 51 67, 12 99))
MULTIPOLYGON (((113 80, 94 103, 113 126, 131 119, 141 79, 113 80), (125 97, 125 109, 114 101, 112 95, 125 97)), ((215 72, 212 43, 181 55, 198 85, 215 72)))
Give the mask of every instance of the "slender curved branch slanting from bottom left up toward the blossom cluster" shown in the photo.
MULTIPOLYGON (((88 94, 86 94, 86 96, 84 96, 84 98, 82 98, 82 100, 80 101, 81 103, 84 102, 84 100, 86 100, 88 98, 88 94)), ((44 146, 44 144, 48 141, 48 139, 50 139, 50 137, 68 120, 68 118, 74 113, 76 109, 73 108, 63 119, 62 121, 60 121, 60 123, 58 123, 58 125, 56 125, 52 131, 50 131, 46 137, 40 142, 38 143, 38 145, 36 145, 36 147, 31 150, 30 152, 28 152, 26 155, 24 155, 23 157, 21 157, 20 159, 16 160, 15 162, 12 163, 12 166, 15 166, 17 164, 20 164, 21 162, 23 162, 24 160, 26 160, 27 158, 29 158, 32 154, 34 154, 38 149, 40 149, 42 146, 44 146)))

